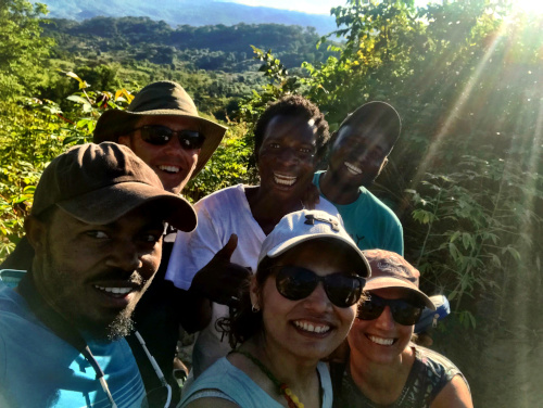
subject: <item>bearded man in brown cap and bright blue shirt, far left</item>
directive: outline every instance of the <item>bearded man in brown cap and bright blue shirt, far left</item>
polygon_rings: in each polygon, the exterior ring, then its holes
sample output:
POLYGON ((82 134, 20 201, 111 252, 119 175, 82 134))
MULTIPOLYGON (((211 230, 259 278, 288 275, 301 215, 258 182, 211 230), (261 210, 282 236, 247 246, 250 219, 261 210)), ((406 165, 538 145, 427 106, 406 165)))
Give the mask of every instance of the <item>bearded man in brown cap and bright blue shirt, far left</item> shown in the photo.
POLYGON ((126 146, 85 144, 51 162, 25 220, 33 267, 15 290, 0 286, 2 404, 141 406, 123 337, 159 268, 164 221, 191 231, 197 217, 126 146))

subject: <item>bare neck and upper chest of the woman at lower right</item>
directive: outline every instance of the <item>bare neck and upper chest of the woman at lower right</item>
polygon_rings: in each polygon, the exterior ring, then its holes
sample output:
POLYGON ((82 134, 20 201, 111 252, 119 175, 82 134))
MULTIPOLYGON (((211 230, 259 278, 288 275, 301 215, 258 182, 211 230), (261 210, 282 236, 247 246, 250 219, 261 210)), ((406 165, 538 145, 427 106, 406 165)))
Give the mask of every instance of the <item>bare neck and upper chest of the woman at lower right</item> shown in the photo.
POLYGON ((349 368, 351 378, 358 390, 376 404, 390 405, 400 398, 407 381, 414 357, 406 347, 390 364, 368 361, 361 354, 351 350, 349 368))

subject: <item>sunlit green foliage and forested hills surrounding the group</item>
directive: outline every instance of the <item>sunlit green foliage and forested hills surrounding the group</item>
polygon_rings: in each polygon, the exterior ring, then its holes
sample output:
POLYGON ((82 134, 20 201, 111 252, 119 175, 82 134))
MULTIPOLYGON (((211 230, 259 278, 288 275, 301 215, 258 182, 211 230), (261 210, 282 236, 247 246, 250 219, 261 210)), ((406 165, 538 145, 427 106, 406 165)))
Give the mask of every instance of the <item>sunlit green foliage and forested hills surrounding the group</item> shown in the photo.
POLYGON ((332 10, 345 42, 316 49, 300 27, 45 23, 45 11, 0 3, 0 257, 23 233, 47 163, 152 80, 178 80, 229 126, 191 200, 254 181, 252 126, 267 102, 302 93, 336 129, 359 104, 389 101, 402 136, 372 191, 401 218, 422 288, 451 301, 434 348, 467 375, 476 406, 541 405, 541 15, 507 1, 350 0, 332 10))

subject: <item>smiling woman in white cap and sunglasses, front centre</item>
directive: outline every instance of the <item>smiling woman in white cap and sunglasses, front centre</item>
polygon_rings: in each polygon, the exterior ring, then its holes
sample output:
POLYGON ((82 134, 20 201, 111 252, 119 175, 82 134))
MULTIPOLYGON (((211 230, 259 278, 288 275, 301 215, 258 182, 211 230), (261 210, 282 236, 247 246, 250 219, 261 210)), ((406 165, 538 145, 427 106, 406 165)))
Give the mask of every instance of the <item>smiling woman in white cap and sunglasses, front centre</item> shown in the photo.
POLYGON ((256 273, 227 320, 230 343, 181 407, 327 407, 327 366, 344 340, 369 266, 338 218, 301 211, 265 239, 256 273))

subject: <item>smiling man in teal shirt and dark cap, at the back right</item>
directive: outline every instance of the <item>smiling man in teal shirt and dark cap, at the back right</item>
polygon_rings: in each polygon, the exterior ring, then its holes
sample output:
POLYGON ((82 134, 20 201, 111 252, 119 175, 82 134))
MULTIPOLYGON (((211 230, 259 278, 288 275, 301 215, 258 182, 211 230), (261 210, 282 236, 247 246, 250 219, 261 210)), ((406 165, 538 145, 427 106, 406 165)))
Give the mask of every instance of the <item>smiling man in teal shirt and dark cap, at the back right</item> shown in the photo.
POLYGON ((328 169, 313 179, 320 194, 336 205, 361 250, 404 253, 402 224, 367 190, 387 165, 401 127, 400 115, 390 104, 359 106, 334 135, 328 169))

